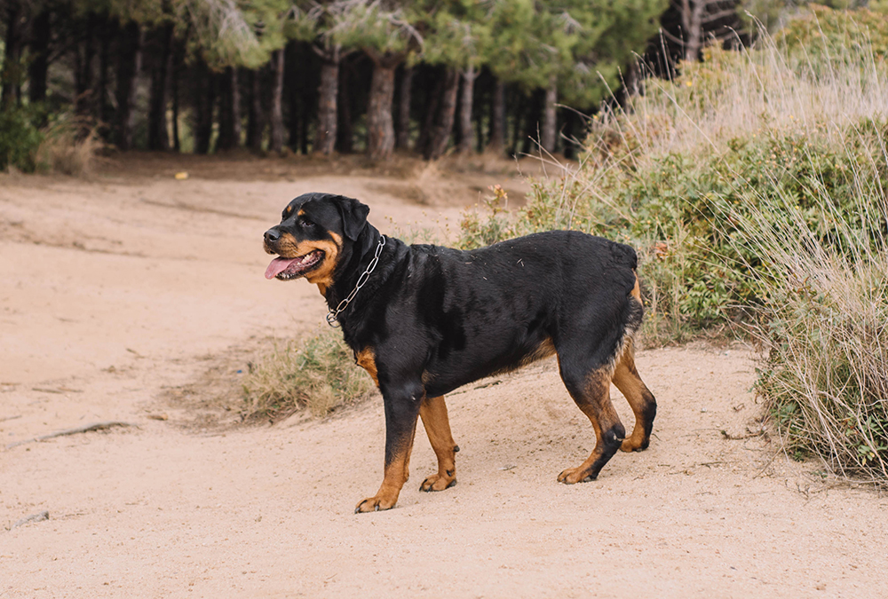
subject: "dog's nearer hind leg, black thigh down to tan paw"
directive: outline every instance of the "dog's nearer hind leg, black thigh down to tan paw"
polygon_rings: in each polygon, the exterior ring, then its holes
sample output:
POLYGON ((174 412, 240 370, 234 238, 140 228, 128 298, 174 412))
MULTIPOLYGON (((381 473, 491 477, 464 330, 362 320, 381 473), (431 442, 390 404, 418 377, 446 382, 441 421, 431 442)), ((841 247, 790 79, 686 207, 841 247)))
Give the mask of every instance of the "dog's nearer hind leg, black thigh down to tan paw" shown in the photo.
POLYGON ((595 430, 595 448, 586 461, 576 468, 562 471, 558 476, 559 483, 573 485, 595 480, 599 476, 601 469, 619 449, 623 437, 626 436, 626 430, 623 429, 620 417, 614 410, 614 404, 611 403, 611 375, 607 366, 583 372, 574 366, 566 365, 563 360, 559 360, 559 364, 561 380, 595 430))

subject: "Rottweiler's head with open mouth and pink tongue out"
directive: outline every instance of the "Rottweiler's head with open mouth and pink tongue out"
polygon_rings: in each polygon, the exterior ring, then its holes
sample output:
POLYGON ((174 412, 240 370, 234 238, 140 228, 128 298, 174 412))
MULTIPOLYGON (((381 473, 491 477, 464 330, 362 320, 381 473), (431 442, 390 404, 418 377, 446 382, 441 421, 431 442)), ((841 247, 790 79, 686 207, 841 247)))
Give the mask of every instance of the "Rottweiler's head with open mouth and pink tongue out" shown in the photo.
POLYGON ((369 211, 360 201, 331 193, 305 193, 290 201, 281 224, 265 233, 266 252, 278 255, 268 264, 266 279, 305 277, 329 287, 344 244, 358 239, 369 211))

